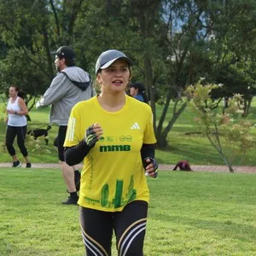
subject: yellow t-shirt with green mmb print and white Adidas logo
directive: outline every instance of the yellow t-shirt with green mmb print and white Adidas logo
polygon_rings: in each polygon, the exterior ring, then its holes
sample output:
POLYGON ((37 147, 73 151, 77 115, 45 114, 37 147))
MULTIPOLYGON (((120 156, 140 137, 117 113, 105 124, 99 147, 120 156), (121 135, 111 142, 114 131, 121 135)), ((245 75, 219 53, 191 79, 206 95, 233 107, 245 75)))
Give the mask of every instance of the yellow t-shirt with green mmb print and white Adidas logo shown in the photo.
POLYGON ((84 158, 79 205, 118 212, 130 201, 148 201, 140 150, 143 143, 156 143, 151 108, 131 96, 117 112, 103 109, 97 96, 79 102, 70 114, 64 146, 79 144, 95 123, 102 125, 103 135, 84 158))

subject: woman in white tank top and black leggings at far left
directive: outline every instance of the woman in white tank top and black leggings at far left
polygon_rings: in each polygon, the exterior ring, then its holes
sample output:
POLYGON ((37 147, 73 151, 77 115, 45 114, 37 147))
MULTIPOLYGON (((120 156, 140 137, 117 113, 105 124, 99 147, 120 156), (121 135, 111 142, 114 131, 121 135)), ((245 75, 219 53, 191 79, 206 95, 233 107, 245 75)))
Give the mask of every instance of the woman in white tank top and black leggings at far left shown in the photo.
POLYGON ((26 137, 26 115, 28 110, 26 103, 20 97, 21 92, 15 85, 9 87, 9 101, 7 104, 8 119, 7 131, 6 131, 6 148, 13 159, 13 167, 21 167, 20 160, 18 160, 15 148, 13 146, 15 137, 17 137, 17 143, 20 148, 20 152, 26 160, 26 168, 31 168, 31 162, 28 158, 27 149, 25 146, 26 137))

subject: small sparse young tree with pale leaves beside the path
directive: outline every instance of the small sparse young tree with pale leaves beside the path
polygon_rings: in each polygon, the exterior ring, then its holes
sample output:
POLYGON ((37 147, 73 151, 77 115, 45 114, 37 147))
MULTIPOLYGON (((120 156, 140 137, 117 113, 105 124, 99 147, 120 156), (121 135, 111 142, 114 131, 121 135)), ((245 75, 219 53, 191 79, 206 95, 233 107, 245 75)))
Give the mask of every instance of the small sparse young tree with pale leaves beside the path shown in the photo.
POLYGON ((223 85, 204 85, 202 81, 203 79, 194 86, 190 85, 186 90, 187 96, 183 100, 189 102, 195 109, 198 129, 218 151, 230 172, 235 172, 234 161, 236 160, 236 165, 241 164, 237 160, 244 160, 247 151, 255 147, 251 133, 253 124, 241 118, 243 113, 241 95, 232 96, 229 107, 223 113, 222 109, 218 108, 218 102, 212 100, 211 96, 212 90, 223 85))

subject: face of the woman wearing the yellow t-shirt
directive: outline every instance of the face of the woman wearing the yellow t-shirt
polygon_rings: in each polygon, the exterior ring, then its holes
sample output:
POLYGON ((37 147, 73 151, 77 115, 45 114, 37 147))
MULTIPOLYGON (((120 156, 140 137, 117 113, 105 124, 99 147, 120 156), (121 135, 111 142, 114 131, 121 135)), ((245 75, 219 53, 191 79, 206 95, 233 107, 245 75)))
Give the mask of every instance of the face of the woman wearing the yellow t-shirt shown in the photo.
POLYGON ((124 92, 130 79, 130 69, 126 61, 114 61, 109 67, 97 74, 97 81, 102 91, 124 92))

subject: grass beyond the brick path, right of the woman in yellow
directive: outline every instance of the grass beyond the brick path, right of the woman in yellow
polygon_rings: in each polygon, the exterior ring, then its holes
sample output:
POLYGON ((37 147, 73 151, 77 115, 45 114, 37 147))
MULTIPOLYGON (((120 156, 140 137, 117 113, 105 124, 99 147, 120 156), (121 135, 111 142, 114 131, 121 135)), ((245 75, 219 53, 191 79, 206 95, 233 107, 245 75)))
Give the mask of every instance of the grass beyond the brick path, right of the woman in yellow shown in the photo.
MULTIPOLYGON (((160 113, 161 108, 158 107, 158 116, 160 116, 160 113)), ((167 120, 171 118, 171 114, 172 107, 168 111, 167 120)), ((250 109, 247 119, 256 124, 256 99, 253 101, 253 107, 250 109)), ((256 138, 255 128, 253 128, 252 134, 256 138)), ((224 147, 224 150, 228 152, 229 148, 224 147)), ((168 146, 165 149, 156 150, 156 158, 163 164, 177 163, 178 160, 189 160, 193 165, 224 165, 224 161, 220 158, 216 149, 212 148, 207 138, 197 133, 195 113, 189 107, 185 108, 174 124, 172 131, 170 131, 168 146)), ((238 157, 234 162, 234 166, 236 165, 256 166, 254 150, 248 151, 246 158, 242 161, 241 157, 238 157)))

